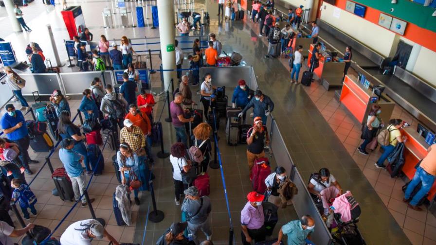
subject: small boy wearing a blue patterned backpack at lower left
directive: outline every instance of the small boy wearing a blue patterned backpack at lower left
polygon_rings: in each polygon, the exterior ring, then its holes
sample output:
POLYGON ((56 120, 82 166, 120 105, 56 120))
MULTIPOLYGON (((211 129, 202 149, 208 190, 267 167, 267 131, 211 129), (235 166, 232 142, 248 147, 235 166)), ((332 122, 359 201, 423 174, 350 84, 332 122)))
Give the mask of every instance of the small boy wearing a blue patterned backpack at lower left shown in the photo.
POLYGON ((15 188, 14 192, 12 192, 12 200, 16 201, 18 199, 24 218, 27 220, 30 219, 29 211, 27 211, 28 208, 33 215, 36 215, 36 196, 30 188, 26 184, 23 184, 22 180, 18 178, 12 179, 11 186, 15 188))

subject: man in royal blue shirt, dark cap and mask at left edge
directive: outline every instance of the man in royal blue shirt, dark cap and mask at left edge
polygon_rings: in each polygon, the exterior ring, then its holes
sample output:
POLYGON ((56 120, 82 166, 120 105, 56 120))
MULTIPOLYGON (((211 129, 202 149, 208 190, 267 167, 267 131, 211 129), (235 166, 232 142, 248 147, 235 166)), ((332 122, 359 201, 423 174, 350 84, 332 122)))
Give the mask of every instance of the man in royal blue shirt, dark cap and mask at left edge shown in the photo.
POLYGON ((27 152, 30 138, 23 113, 16 110, 12 104, 7 104, 4 108, 6 109, 6 113, 3 114, 0 121, 3 133, 9 140, 12 140, 18 145, 19 152, 21 153, 19 159, 26 169, 26 174, 33 175, 29 163, 38 163, 38 161, 30 159, 29 153, 27 152))

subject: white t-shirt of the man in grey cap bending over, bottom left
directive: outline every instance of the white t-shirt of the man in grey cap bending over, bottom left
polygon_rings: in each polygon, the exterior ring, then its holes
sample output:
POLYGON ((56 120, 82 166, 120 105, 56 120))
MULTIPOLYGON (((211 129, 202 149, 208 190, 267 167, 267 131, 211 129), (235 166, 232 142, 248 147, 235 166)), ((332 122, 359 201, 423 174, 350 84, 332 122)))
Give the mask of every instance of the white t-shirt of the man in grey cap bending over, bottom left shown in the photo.
POLYGON ((80 220, 71 224, 60 237, 62 245, 91 245, 91 238, 85 229, 87 225, 97 223, 94 219, 80 220), (83 226, 82 226, 83 225, 83 226), (80 229, 80 230, 76 230, 80 229))

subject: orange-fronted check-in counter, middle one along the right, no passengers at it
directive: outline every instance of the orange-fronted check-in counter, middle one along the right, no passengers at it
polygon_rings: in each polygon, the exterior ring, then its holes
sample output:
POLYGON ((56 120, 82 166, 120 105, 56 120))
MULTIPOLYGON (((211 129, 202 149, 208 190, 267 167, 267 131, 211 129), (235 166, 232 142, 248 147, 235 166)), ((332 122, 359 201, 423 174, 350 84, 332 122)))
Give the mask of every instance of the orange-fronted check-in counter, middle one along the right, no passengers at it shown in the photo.
POLYGON ((395 103, 385 94, 382 94, 381 98, 378 99, 378 96, 373 94, 372 89, 365 88, 354 75, 345 75, 339 102, 359 123, 366 123, 367 115, 374 103, 380 105, 382 109, 381 119, 387 123, 395 106, 395 103))

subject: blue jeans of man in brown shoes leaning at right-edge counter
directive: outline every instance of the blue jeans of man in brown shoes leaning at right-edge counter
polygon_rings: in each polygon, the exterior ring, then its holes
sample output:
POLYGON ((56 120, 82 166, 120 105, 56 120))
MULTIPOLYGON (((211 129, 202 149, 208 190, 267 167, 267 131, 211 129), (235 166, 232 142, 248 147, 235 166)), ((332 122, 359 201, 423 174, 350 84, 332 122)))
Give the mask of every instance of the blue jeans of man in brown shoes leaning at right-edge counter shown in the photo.
POLYGON ((436 176, 430 175, 427 172, 425 172, 424 169, 418 167, 417 172, 415 172, 412 181, 409 183, 409 185, 407 185, 407 189, 404 192, 404 198, 409 199, 415 187, 419 184, 419 182, 422 182, 421 189, 419 189, 419 191, 415 194, 415 196, 413 196, 412 201, 410 201, 410 205, 417 206, 419 200, 421 200, 422 197, 424 197, 424 195, 430 191, 430 188, 432 188, 435 179, 436 176))

